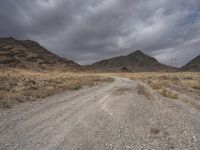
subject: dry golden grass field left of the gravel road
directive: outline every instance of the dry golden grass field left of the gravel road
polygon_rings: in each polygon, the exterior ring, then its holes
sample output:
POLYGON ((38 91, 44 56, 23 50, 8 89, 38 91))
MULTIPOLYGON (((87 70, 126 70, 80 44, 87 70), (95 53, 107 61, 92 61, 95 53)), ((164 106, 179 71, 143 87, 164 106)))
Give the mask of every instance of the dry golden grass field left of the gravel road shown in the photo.
POLYGON ((79 90, 112 78, 93 73, 35 72, 30 70, 0 70, 0 107, 35 101, 64 90, 79 90))

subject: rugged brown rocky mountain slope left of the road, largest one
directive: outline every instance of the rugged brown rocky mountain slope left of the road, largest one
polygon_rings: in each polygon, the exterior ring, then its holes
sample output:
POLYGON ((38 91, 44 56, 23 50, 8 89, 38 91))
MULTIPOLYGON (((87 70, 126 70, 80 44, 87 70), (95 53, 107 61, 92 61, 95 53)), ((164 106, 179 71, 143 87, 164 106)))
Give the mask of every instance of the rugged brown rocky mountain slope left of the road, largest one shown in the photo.
POLYGON ((0 67, 76 70, 75 62, 60 58, 40 44, 30 40, 0 38, 0 67))

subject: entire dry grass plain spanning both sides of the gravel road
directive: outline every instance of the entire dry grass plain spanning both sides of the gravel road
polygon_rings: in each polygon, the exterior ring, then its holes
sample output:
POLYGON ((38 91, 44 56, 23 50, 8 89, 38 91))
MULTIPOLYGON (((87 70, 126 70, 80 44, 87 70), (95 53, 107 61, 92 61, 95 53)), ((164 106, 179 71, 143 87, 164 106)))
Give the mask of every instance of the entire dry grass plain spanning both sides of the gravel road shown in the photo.
MULTIPOLYGON (((200 96, 199 73, 71 73, 35 72, 30 70, 0 70, 0 107, 10 108, 13 104, 34 101, 64 90, 79 90, 111 81, 110 76, 120 76, 142 81, 162 96, 172 99, 179 94, 200 96)), ((138 85, 138 93, 150 97, 148 90, 138 85)), ((150 97, 151 98, 151 97, 150 97)))

